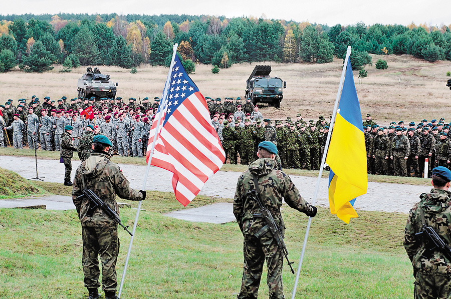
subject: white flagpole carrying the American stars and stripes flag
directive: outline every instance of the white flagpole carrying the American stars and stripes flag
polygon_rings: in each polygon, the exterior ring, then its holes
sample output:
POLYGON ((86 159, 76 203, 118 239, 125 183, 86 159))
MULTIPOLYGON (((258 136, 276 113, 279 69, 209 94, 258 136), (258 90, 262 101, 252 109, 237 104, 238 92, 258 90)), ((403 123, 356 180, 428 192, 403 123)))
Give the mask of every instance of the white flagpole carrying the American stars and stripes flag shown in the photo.
MULTIPOLYGON (((152 156, 153 156, 153 152, 155 150, 155 141, 156 141, 156 137, 158 135, 158 130, 159 130, 159 126, 160 126, 160 120, 161 120, 161 116, 163 114, 163 108, 164 108, 164 106, 166 105, 166 102, 167 102, 167 91, 168 91, 169 85, 170 85, 171 72, 172 72, 172 67, 174 66, 174 59, 175 59, 175 55, 177 53, 177 47, 178 47, 178 44, 175 44, 174 47, 173 47, 171 66, 169 67, 169 72, 167 74, 166 84, 164 85, 163 97, 162 97, 163 101, 160 103, 160 105, 162 105, 162 106, 161 106, 161 109, 160 109, 160 111, 158 113, 158 119, 157 119, 157 123, 156 123, 157 126, 156 126, 156 130, 155 130, 155 135, 153 137, 152 147, 150 149, 149 162, 147 163, 146 174, 144 175, 144 180, 142 182, 141 190, 145 190, 145 188, 146 188, 147 176, 149 175, 150 163, 152 162, 152 156)), ((136 211, 135 222, 133 223, 133 232, 132 232, 132 236, 130 238, 130 244, 128 245, 127 257, 125 258, 124 271, 122 272, 121 285, 119 287, 119 293, 118 293, 118 297, 119 298, 121 297, 122 287, 124 286, 125 273, 127 272, 127 265, 128 265, 128 260, 130 258, 130 252, 131 252, 131 247, 132 247, 132 243, 133 243, 133 238, 135 236, 136 226, 138 224, 139 211, 141 210, 141 202, 142 202, 142 200, 140 200, 139 203, 138 203, 138 209, 136 211)))

